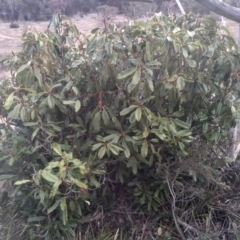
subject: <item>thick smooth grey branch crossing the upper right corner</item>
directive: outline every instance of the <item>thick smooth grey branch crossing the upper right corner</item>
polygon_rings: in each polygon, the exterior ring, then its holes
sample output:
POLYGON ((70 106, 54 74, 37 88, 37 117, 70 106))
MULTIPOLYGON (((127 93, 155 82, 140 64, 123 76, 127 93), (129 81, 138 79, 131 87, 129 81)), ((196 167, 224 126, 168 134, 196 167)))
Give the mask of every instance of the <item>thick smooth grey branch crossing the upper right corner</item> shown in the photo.
POLYGON ((240 8, 233 7, 219 0, 195 0, 209 10, 240 23, 240 8))

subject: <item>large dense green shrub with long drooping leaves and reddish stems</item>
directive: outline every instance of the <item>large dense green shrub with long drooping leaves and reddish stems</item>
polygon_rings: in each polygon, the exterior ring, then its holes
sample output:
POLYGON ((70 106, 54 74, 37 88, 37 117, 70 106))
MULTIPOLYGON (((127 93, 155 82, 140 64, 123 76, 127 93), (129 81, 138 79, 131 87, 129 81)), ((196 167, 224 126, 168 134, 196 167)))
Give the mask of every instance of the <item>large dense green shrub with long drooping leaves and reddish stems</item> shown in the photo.
POLYGON ((126 239, 237 234, 222 146, 240 55, 227 30, 156 14, 85 36, 55 15, 22 40, 0 89, 3 236, 75 239, 104 216, 126 239))

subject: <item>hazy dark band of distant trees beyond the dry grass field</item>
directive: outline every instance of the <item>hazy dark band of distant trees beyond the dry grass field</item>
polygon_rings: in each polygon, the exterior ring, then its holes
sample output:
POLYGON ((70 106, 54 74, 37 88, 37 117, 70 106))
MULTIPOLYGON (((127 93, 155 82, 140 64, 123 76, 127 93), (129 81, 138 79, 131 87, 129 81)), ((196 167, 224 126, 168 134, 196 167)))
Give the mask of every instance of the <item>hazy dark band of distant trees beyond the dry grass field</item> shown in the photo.
MULTIPOLYGON (((194 0, 181 1, 187 12, 209 14, 209 11, 202 7, 194 0)), ((237 0, 226 0, 236 6, 237 0)), ((130 17, 150 16, 155 6, 156 11, 162 11, 164 14, 173 14, 178 12, 175 0, 154 0, 154 1, 128 1, 128 0, 1 0, 0 1, 0 17, 4 21, 29 20, 43 21, 49 20, 54 12, 60 10, 67 16, 73 16, 77 13, 84 15, 90 11, 96 11, 96 8, 102 5, 117 7, 120 14, 126 14, 130 17), (146 7, 144 4, 147 4, 146 7), (134 11, 135 9, 135 11, 134 11), (137 16, 136 16, 137 14, 137 16)))

